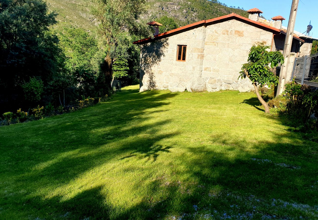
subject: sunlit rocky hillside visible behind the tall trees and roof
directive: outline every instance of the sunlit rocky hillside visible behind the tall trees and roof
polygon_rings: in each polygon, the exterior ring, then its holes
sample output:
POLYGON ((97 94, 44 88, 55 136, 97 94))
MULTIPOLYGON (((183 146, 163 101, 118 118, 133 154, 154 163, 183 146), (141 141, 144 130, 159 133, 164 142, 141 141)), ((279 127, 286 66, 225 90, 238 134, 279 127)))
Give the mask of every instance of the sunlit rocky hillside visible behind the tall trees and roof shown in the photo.
MULTIPOLYGON (((49 8, 59 13, 59 24, 56 28, 73 25, 91 30, 94 27, 94 19, 81 7, 84 2, 85 0, 47 0, 49 8)), ((167 15, 173 17, 179 26, 183 26, 231 13, 248 17, 245 10, 229 8, 207 0, 148 0, 147 13, 141 15, 141 18, 151 21, 167 15)))

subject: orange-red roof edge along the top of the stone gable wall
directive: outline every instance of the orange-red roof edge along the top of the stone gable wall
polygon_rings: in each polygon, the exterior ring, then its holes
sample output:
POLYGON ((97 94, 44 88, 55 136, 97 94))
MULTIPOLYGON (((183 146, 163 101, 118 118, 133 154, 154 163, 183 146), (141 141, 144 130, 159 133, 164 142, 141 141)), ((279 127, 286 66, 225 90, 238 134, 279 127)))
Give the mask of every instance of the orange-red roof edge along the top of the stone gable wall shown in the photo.
POLYGON ((141 40, 137 40, 137 41, 133 42, 133 44, 138 44, 138 45, 146 44, 146 43, 149 43, 149 42, 152 42, 152 41, 156 41, 156 40, 159 40, 159 39, 162 39, 162 38, 167 38, 167 37, 170 37, 172 35, 181 33, 183 31, 191 30, 191 29, 194 29, 194 28, 197 28, 197 27, 200 27, 200 26, 207 26, 207 25, 211 25, 211 24, 217 24, 217 23, 224 22, 224 21, 227 21, 227 20, 232 20, 232 19, 236 19, 236 20, 242 21, 244 23, 250 24, 252 26, 255 26, 257 28, 260 28, 260 29, 263 29, 263 30, 266 30, 266 31, 271 31, 271 32, 273 32, 275 34, 279 34, 280 33, 280 29, 274 28, 272 26, 269 26, 267 24, 263 24, 263 23, 260 23, 260 22, 257 22, 257 21, 253 21, 251 19, 248 19, 246 17, 240 16, 238 14, 232 13, 232 14, 229 14, 229 15, 224 15, 224 16, 212 18, 212 19, 209 19, 209 20, 198 21, 198 22, 193 23, 193 24, 188 24, 188 25, 185 25, 183 27, 179 27, 179 28, 176 28, 174 30, 167 31, 165 33, 157 34, 154 37, 149 37, 149 38, 144 38, 144 39, 141 39, 141 40))

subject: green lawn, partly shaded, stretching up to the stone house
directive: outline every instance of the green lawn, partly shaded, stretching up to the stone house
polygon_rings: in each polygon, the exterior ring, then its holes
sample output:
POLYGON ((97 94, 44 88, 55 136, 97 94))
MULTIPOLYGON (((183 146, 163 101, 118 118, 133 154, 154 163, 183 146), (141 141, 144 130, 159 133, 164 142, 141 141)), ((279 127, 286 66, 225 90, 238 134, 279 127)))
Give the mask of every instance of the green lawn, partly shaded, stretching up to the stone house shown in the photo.
POLYGON ((0 219, 317 219, 317 143, 254 93, 123 88, 0 127, 0 219))

